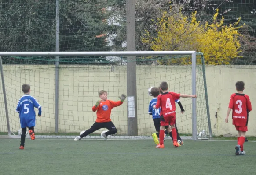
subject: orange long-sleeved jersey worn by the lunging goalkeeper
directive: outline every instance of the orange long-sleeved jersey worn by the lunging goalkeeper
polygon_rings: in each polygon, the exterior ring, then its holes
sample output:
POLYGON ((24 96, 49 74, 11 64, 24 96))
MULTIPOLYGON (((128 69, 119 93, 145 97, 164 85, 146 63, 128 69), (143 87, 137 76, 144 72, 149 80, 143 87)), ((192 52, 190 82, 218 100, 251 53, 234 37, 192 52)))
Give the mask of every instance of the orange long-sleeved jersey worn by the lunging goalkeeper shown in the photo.
POLYGON ((97 114, 97 119, 95 122, 110 122, 110 114, 111 114, 111 110, 114 107, 120 106, 122 105, 123 102, 118 101, 118 102, 114 102, 111 100, 106 100, 105 102, 100 102, 99 106, 95 107, 95 105, 92 107, 92 111, 96 112, 97 114))

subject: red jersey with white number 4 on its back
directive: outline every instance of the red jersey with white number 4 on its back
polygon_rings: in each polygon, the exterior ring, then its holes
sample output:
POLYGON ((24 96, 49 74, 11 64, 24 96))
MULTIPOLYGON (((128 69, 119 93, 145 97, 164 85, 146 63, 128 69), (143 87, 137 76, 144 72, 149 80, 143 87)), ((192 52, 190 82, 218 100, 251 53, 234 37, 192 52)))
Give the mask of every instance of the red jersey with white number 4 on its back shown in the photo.
POLYGON ((179 96, 180 94, 176 94, 175 92, 165 92, 158 95, 156 108, 161 107, 161 112, 164 117, 175 115, 175 100, 178 100, 179 96))

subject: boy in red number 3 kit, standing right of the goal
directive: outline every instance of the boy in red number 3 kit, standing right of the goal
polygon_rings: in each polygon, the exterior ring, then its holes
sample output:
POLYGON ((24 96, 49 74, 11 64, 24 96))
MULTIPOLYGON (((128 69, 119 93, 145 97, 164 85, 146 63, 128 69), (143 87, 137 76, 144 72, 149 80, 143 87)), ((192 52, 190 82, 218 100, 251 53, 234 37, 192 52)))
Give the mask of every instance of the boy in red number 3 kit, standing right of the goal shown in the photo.
POLYGON ((236 90, 238 93, 232 94, 227 109, 227 116, 225 122, 228 123, 228 116, 232 109, 233 125, 238 131, 238 144, 235 147, 236 155, 245 155, 244 142, 245 133, 248 131, 248 115, 252 111, 252 104, 248 95, 243 93, 245 83, 243 81, 236 82, 236 90))

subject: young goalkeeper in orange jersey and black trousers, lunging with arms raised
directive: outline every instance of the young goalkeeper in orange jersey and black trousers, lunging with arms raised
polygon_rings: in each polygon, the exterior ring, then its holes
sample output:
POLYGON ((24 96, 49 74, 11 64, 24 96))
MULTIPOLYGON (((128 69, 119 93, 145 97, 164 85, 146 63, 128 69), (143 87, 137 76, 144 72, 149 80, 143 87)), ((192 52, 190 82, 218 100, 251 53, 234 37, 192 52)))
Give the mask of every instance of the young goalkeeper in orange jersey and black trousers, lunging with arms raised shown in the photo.
POLYGON ((84 133, 82 133, 80 136, 77 136, 74 140, 81 140, 83 137, 89 135, 90 133, 95 132, 96 130, 99 130, 101 128, 106 128, 109 131, 106 133, 102 133, 102 136, 105 138, 105 140, 108 140, 107 137, 108 135, 112 135, 117 133, 116 126, 111 122, 110 119, 110 113, 112 108, 120 106, 123 104, 126 95, 122 94, 120 98, 121 101, 114 102, 111 100, 107 99, 107 91, 99 91, 99 100, 96 102, 96 104, 92 107, 92 111, 95 112, 97 111, 97 119, 95 123, 91 126, 90 129, 86 130, 84 133))

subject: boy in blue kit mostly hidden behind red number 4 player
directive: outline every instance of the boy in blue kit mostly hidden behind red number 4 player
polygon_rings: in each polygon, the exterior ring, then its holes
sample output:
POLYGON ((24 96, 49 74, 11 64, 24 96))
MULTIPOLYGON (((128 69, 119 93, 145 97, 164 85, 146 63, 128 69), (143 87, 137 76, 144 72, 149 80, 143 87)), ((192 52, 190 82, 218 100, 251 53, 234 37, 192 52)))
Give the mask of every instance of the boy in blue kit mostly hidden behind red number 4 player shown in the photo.
MULTIPOLYGON (((160 131, 160 116, 161 116, 161 108, 158 108, 158 109, 155 109, 153 108, 153 105, 156 105, 157 103, 157 96, 161 93, 160 91, 160 88, 156 88, 156 87, 153 87, 151 89, 151 94, 153 95, 153 99, 150 101, 150 104, 149 104, 149 110, 148 110, 148 113, 150 115, 152 115, 152 118, 153 118, 153 122, 154 122, 154 126, 155 126, 155 129, 157 131, 157 133, 153 133, 152 134, 152 137, 153 137, 153 140, 154 140, 154 143, 155 144, 159 144, 159 141, 158 141, 158 137, 159 137, 159 131, 160 131)), ((179 107, 181 109, 181 113, 184 113, 184 109, 183 109, 183 106, 181 104, 181 102, 179 100, 176 100, 176 103, 179 104, 179 107)), ((180 145, 183 145, 183 141, 182 139, 180 138, 179 136, 179 133, 178 133, 178 128, 176 126, 176 123, 175 123, 175 128, 176 128, 176 132, 177 132, 177 139, 178 139, 178 143, 180 145)), ((172 130, 169 126, 165 126, 165 134, 169 134, 170 137, 172 137, 172 130)), ((172 140, 173 140, 173 137, 172 137, 172 140)))

